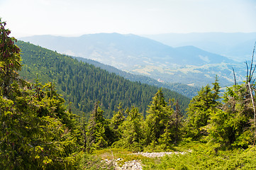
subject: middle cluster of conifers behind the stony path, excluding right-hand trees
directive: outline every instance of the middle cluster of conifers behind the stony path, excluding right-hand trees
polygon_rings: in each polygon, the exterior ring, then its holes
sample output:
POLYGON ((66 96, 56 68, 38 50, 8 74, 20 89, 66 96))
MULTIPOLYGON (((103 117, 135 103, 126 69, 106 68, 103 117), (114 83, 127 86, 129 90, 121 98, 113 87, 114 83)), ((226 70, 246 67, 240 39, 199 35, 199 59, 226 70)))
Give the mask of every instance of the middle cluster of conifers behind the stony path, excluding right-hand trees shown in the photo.
POLYGON ((113 118, 105 119, 104 111, 95 103, 89 122, 84 124, 84 149, 91 152, 104 147, 118 147, 133 151, 172 149, 184 132, 184 116, 178 101, 165 101, 162 89, 157 91, 147 109, 147 115, 121 105, 113 118))

